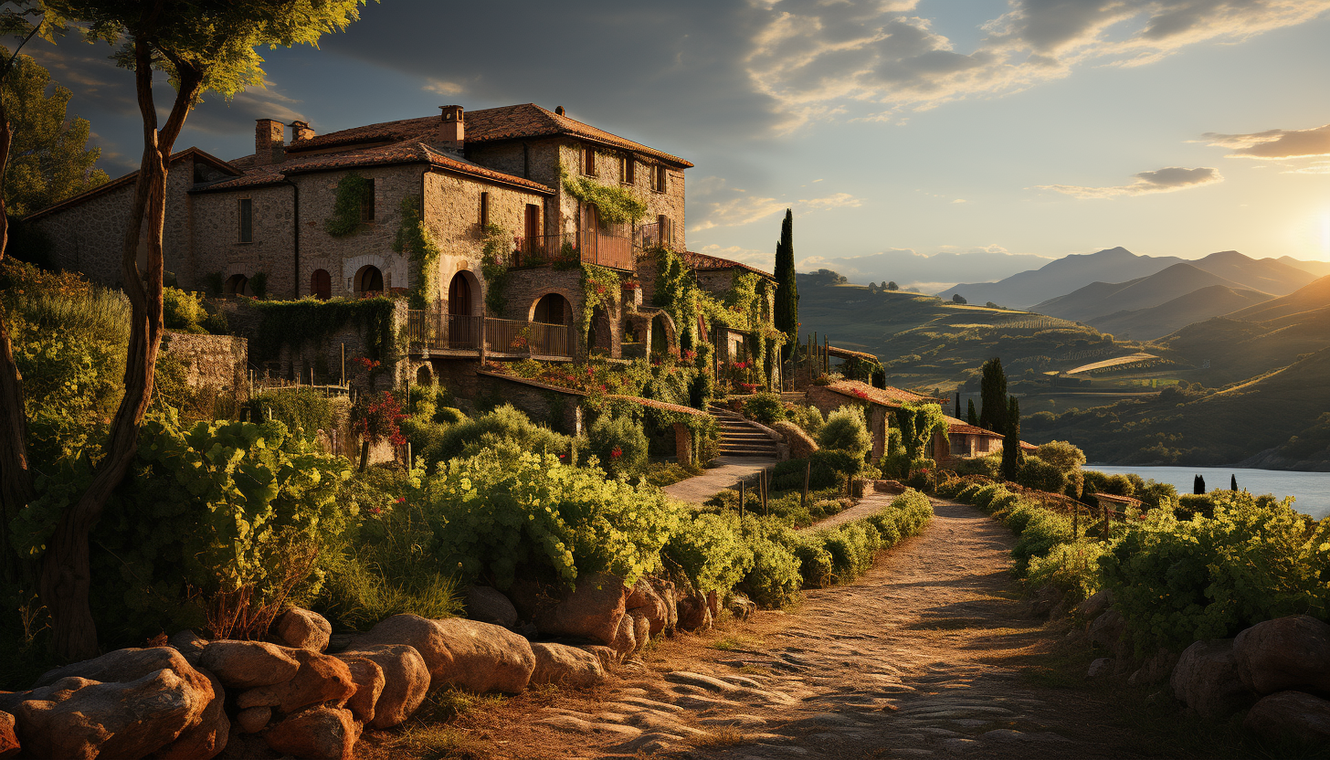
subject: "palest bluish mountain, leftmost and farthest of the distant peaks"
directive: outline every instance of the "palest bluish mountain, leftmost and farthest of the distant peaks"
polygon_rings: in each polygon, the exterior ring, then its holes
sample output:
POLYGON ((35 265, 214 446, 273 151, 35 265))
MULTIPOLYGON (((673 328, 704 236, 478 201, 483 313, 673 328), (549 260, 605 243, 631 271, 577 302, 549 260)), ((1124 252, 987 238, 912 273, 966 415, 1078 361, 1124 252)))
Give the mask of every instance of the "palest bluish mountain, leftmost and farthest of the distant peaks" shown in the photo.
MULTIPOLYGON (((1128 280, 1149 277, 1181 261, 1176 256, 1136 256, 1125 248, 1119 246, 1097 253, 1073 253, 1051 261, 1039 269, 1012 274, 998 282, 956 285, 938 293, 938 295, 951 298, 952 294, 959 293, 971 303, 992 301, 994 303, 1013 309, 1027 309, 1033 303, 1040 303, 1053 295, 1071 293, 1091 282, 1125 282, 1128 280)), ((1149 303, 1149 306, 1158 303, 1149 303)), ((1089 317, 1108 314, 1119 309, 1096 311, 1089 314, 1089 317)))

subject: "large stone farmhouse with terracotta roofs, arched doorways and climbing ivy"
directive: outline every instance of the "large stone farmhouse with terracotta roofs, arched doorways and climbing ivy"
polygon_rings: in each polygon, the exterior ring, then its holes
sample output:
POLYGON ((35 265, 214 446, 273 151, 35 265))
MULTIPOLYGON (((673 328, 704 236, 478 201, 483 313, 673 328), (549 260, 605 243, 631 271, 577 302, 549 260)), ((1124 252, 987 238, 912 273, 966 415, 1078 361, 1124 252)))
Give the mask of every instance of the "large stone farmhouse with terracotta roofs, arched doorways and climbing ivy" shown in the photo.
MULTIPOLYGON (((180 287, 230 298, 411 294, 412 307, 398 310, 410 349, 396 359, 394 382, 454 377, 466 371, 459 359, 473 369, 511 358, 678 355, 684 326, 650 306, 652 252, 676 252, 698 287, 714 294, 757 272, 686 250, 692 165, 576 121, 561 106, 468 113, 446 105, 438 116, 327 134, 303 121, 283 126, 261 118, 251 156, 223 161, 189 148, 170 158, 165 268, 180 287), (335 230, 330 222, 346 221, 348 188, 358 193, 355 218, 335 230), (597 192, 626 192, 646 213, 636 224, 613 221, 597 206, 597 192), (400 245, 410 214, 438 249, 427 265, 414 264, 400 245), (589 326, 579 330, 591 265, 612 270, 622 290, 595 299, 589 326), (501 298, 488 298, 500 287, 501 298), (499 302, 501 309, 487 307, 499 302)), ((133 180, 121 177, 25 221, 51 241, 61 268, 117 285, 133 180)), ((774 289, 766 291, 769 321, 774 289)), ((724 326, 697 331, 716 346, 718 362, 746 355, 745 341, 753 339, 724 326)), ((326 341, 301 346, 291 335, 289 343, 275 367, 283 375, 307 374, 310 351, 326 354, 314 365, 334 363, 326 341)))

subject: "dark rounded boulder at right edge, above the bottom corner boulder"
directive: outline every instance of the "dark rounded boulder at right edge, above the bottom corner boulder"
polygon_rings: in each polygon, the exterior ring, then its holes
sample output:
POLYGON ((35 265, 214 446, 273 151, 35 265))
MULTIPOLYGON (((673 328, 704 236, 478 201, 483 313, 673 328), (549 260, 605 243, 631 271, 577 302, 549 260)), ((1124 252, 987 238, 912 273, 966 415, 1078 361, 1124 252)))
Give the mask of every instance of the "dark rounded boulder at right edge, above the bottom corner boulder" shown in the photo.
POLYGON ((1242 683, 1257 693, 1330 692, 1330 624, 1307 615, 1257 623, 1233 640, 1242 683))

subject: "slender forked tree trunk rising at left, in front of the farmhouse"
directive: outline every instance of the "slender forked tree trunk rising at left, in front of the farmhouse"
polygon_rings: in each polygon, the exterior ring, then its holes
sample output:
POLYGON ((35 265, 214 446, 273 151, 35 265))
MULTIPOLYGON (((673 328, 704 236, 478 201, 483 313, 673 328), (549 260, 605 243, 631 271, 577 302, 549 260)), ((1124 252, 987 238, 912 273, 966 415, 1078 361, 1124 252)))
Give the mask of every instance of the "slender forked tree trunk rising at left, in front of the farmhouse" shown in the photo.
POLYGON ((51 611, 53 647, 59 656, 80 660, 96 656, 97 627, 88 606, 92 587, 88 536, 101 518, 112 492, 124 480, 138 451, 138 429, 152 401, 153 374, 162 333, 162 226, 166 216, 166 172, 170 149, 198 95, 202 76, 181 68, 172 113, 157 129, 153 102, 150 48, 134 43, 134 80, 144 118, 144 157, 134 182, 134 204, 121 245, 124 287, 132 307, 129 349, 125 355, 125 395, 112 419, 105 457, 97 463, 92 484, 78 502, 60 516, 43 556, 40 591, 51 611), (146 216, 146 220, 145 220, 146 216), (138 272, 138 242, 146 222, 148 270, 138 272))

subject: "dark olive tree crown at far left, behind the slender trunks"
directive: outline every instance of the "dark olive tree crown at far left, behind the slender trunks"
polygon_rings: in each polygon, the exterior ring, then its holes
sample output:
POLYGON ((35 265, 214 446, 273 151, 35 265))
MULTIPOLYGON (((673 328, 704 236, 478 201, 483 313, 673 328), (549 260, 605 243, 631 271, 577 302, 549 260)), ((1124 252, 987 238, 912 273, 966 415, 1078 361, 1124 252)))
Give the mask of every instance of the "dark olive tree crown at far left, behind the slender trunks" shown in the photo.
MULTIPOLYGON (((0 47, 0 60, 9 51, 0 47)), ((51 73, 32 57, 20 55, 0 85, 13 144, 4 182, 5 212, 25 217, 90 190, 109 177, 94 168, 101 148, 88 148, 86 118, 66 118, 72 92, 55 85, 51 73)))

